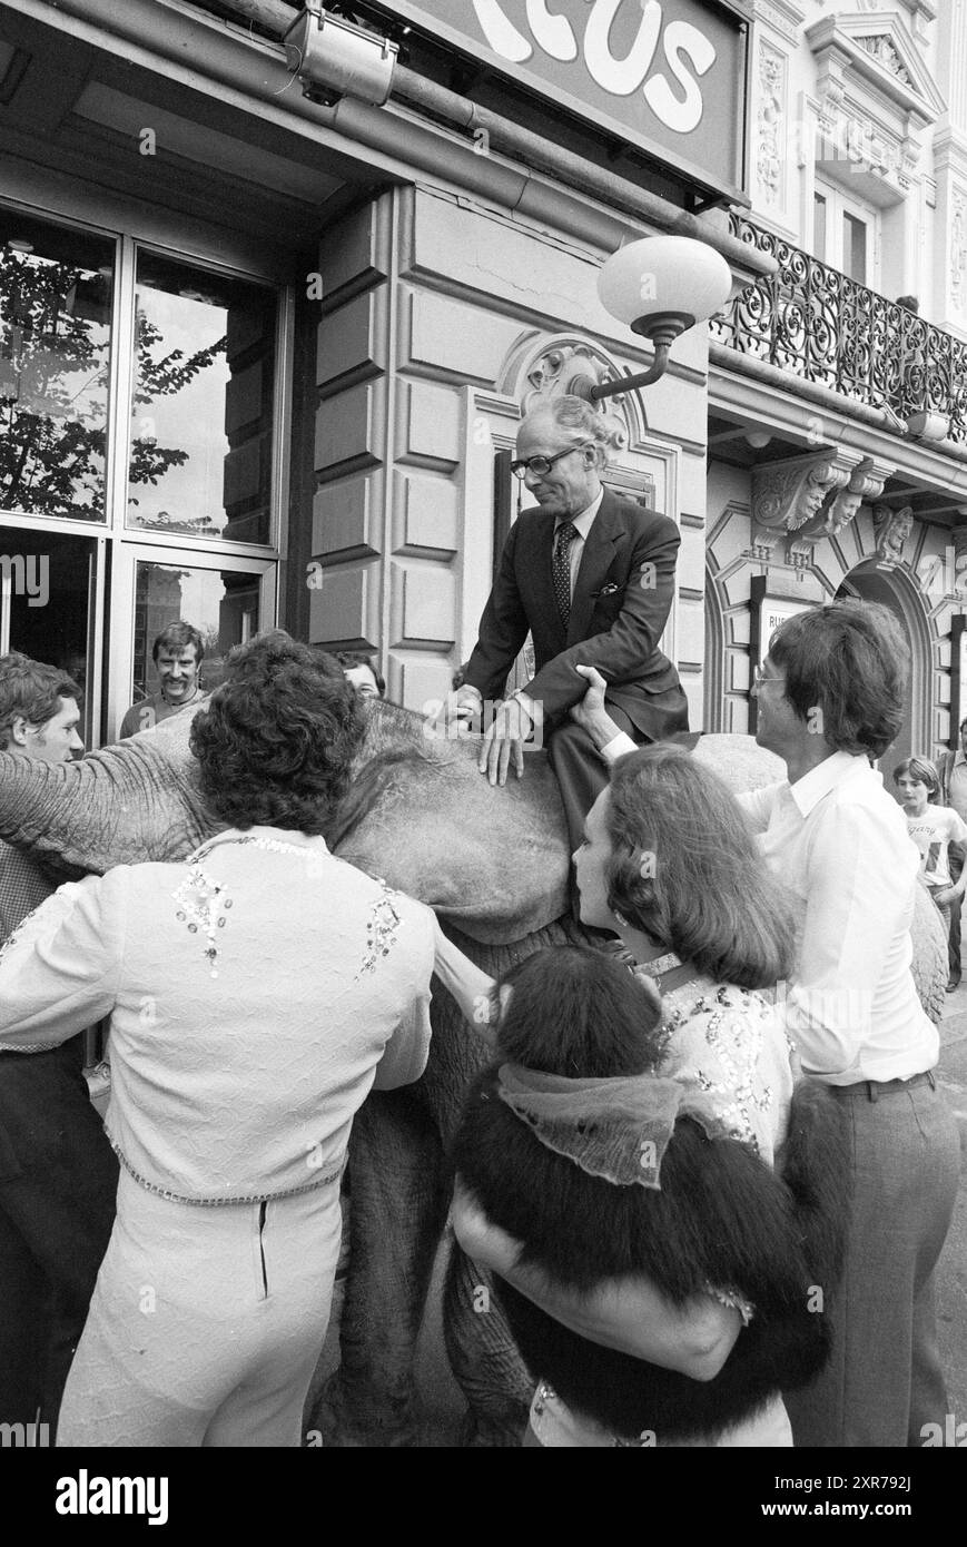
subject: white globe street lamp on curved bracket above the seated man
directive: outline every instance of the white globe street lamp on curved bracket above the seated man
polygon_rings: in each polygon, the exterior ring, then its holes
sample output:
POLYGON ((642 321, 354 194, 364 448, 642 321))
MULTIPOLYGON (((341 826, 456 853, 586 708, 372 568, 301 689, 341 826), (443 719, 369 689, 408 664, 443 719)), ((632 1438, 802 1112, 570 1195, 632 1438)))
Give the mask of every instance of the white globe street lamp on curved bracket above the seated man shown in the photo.
POLYGON ((664 376, 668 351, 679 333, 719 311, 732 289, 732 272, 721 252, 692 237, 642 237, 620 248, 597 275, 603 306, 650 339, 654 360, 648 371, 596 382, 591 402, 634 387, 650 387, 664 376))

